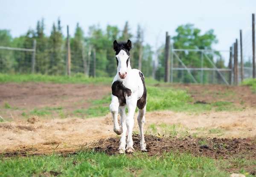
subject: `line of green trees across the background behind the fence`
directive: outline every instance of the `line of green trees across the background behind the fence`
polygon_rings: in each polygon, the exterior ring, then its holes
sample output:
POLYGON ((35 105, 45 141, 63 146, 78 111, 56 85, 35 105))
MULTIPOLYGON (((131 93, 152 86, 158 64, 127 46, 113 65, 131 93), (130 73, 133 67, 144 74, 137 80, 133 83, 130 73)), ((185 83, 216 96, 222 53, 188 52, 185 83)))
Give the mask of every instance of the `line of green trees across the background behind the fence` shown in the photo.
MULTIPOLYGON (((45 34, 44 19, 37 22, 35 29, 29 29, 25 35, 13 38, 8 30, 0 30, 0 46, 11 46, 32 49, 33 40, 36 40, 36 64, 35 73, 40 74, 66 74, 66 54, 67 41, 61 25, 61 20, 52 24, 51 34, 45 34)), ((108 25, 106 29, 99 26, 90 26, 88 34, 84 34, 83 29, 76 25, 75 34, 70 35, 71 48, 71 73, 82 73, 88 76, 112 77, 116 74, 116 61, 113 51, 113 40, 125 41, 131 39, 133 49, 130 53, 132 68, 141 69, 147 77, 155 73, 157 80, 164 77, 164 44, 156 52, 152 47, 144 42, 143 29, 137 26, 136 34, 131 33, 128 22, 123 29, 117 26, 108 25), (157 54, 157 60, 153 61, 153 56, 157 54), (95 67, 95 71, 94 71, 95 67)), ((212 49, 212 44, 217 43, 213 30, 201 34, 201 30, 192 24, 178 26, 176 35, 171 38, 175 49, 212 49)), ((177 52, 187 67, 201 67, 200 52, 177 52)), ((215 64, 219 68, 225 68, 224 60, 221 60, 219 53, 209 54, 218 57, 215 64)), ((31 73, 32 52, 29 51, 7 51, 0 50, 0 72, 2 73, 31 73)), ((181 64, 174 60, 174 66, 182 68, 181 64)), ((204 67, 212 67, 209 62, 204 62, 204 67)), ((195 71, 195 77, 199 73, 195 71)), ((204 75, 207 80, 207 75, 204 75)), ((175 71, 176 82, 191 82, 191 78, 185 71, 175 71)))

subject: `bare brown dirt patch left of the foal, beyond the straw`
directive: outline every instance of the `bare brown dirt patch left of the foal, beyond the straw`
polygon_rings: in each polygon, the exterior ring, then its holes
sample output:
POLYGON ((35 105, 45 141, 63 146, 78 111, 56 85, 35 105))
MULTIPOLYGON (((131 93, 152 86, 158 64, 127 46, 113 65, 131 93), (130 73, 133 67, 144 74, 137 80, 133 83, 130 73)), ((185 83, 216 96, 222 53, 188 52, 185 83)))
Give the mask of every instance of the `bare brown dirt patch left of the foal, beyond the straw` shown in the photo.
POLYGON ((4 83, 0 84, 0 115, 15 119, 23 111, 62 107, 65 112, 88 108, 91 100, 111 92, 110 86, 93 84, 4 83), (11 108, 4 108, 8 103, 11 108))

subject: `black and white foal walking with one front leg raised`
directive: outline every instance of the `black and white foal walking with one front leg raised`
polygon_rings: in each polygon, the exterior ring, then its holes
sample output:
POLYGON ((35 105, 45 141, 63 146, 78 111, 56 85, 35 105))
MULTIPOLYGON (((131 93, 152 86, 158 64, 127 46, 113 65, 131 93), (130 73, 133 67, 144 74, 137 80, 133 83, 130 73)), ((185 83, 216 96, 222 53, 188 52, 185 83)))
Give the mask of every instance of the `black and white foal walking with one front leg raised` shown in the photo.
POLYGON ((140 127, 140 149, 146 150, 144 139, 143 124, 145 123, 145 111, 147 103, 147 91, 145 87, 144 76, 138 69, 131 69, 130 49, 131 41, 113 42, 113 48, 116 51, 117 73, 112 83, 112 101, 109 106, 113 116, 114 131, 116 134, 122 134, 118 153, 133 153, 132 129, 134 126, 134 113, 136 106, 139 108, 137 117, 140 127), (128 108, 128 115, 125 113, 125 107, 128 108), (120 123, 117 116, 120 114, 120 123), (127 142, 125 143, 128 132, 127 142), (127 144, 126 148, 125 145, 127 144))

